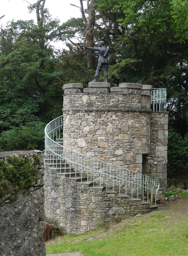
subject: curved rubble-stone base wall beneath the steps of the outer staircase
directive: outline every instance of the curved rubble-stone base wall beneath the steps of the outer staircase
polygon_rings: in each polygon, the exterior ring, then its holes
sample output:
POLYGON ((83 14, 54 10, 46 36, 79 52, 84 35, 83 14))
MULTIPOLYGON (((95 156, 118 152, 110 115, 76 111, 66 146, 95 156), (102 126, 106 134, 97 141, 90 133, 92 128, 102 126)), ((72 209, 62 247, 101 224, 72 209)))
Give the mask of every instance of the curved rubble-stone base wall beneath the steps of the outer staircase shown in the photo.
MULTIPOLYGON (((144 214, 157 208, 141 199, 130 199, 104 186, 76 182, 45 166, 45 215, 61 223, 69 233, 81 234, 97 228, 111 215, 122 219, 144 214)), ((90 182, 89 182, 90 183, 90 182)), ((91 182, 92 183, 92 182, 91 182)), ((117 190, 118 191, 118 190, 117 190)))

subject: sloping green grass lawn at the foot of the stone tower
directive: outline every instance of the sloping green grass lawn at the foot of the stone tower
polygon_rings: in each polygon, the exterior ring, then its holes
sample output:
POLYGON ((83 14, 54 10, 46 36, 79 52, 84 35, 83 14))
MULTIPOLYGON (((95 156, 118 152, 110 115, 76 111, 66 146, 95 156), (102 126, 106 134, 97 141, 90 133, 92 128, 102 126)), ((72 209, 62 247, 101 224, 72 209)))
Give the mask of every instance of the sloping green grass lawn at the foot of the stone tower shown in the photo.
POLYGON ((66 235, 46 248, 47 253, 78 251, 84 256, 188 255, 188 199, 106 229, 66 235))

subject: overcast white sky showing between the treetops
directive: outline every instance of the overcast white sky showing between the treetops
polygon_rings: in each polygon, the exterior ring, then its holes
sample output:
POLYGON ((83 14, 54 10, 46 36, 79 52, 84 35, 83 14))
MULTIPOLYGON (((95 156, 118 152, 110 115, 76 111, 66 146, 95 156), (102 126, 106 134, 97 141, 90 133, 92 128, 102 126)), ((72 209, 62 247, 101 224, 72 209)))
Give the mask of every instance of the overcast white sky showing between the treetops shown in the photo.
MULTIPOLYGON (((0 17, 5 14, 4 18, 0 20, 0 24, 6 25, 6 22, 10 20, 35 20, 35 12, 31 14, 28 13, 27 6, 28 3, 23 0, 0 0, 1 9, 0 17)), ((37 0, 28 0, 29 3, 36 3, 37 0)), ((52 18, 59 18, 60 22, 63 23, 70 19, 70 17, 81 17, 81 12, 78 8, 71 6, 70 4, 75 4, 79 6, 79 0, 46 0, 45 8, 49 9, 52 18)), ((62 44, 62 43, 61 43, 62 44)), ((59 44, 55 47, 59 48, 59 44)), ((60 47, 61 48, 61 47, 60 47)))

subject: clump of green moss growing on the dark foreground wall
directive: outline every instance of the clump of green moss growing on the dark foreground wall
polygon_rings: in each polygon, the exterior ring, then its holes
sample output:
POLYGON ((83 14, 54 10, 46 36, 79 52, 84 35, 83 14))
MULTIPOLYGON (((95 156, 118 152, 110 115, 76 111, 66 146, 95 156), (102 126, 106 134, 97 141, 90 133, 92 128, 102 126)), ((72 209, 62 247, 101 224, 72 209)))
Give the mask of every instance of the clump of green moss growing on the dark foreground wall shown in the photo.
POLYGON ((36 171, 29 156, 10 156, 7 162, 0 159, 0 197, 10 194, 8 199, 15 199, 19 189, 27 189, 36 181, 36 171))

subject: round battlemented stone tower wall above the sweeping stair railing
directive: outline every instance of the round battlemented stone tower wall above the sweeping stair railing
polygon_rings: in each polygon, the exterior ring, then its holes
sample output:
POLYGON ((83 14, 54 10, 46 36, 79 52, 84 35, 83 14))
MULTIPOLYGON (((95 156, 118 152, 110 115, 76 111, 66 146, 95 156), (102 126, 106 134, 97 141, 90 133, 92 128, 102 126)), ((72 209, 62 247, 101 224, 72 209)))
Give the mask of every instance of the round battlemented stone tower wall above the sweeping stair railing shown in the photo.
POLYGON ((152 86, 124 83, 67 84, 64 89, 63 145, 134 172, 149 153, 152 86))

